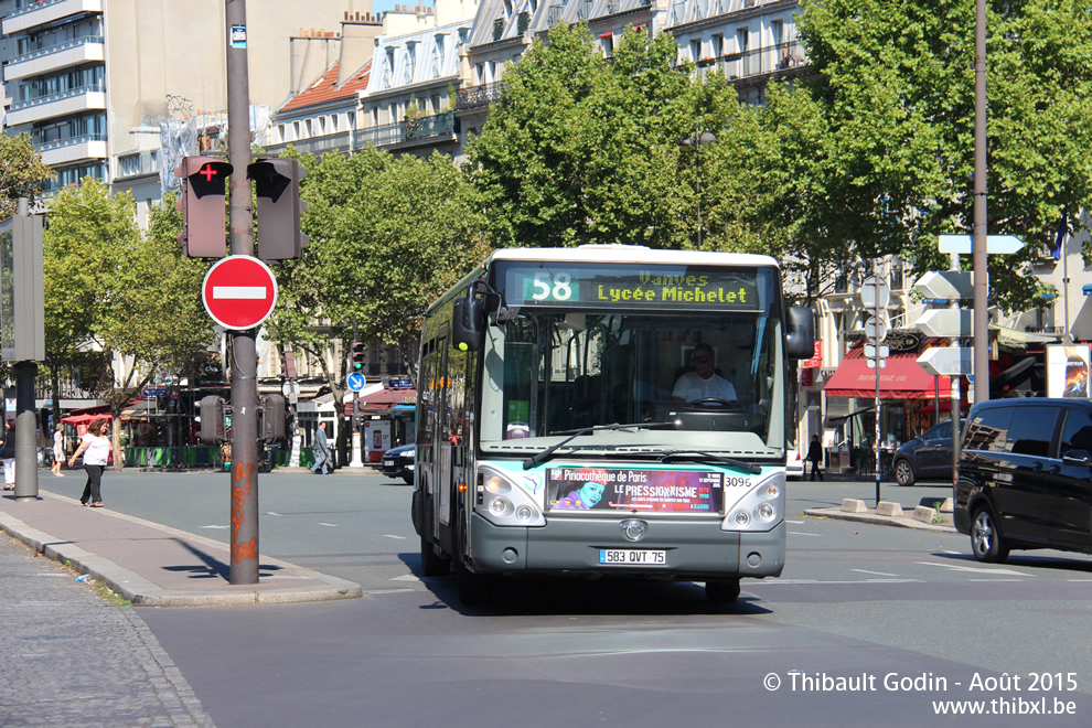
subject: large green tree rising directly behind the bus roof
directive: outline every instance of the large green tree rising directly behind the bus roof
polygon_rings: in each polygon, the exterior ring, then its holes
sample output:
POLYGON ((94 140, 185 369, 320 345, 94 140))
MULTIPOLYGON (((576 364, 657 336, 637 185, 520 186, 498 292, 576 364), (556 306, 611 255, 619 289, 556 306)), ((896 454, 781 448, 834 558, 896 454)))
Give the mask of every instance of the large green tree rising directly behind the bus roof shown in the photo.
POLYGON ((631 29, 608 63, 584 24, 532 44, 467 149, 494 244, 685 243, 679 142, 694 115, 675 56, 670 34, 631 29))

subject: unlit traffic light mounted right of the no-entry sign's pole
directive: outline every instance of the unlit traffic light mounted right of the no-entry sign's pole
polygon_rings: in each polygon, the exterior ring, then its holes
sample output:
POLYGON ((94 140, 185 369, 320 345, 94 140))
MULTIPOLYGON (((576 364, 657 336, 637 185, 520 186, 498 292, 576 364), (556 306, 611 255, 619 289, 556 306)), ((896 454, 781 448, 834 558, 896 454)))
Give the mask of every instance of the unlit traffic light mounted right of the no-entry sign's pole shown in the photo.
POLYGON ((247 165, 258 199, 258 257, 263 260, 298 258, 308 244, 300 232, 300 215, 307 203, 300 200, 300 180, 307 176, 295 159, 263 159, 247 165))

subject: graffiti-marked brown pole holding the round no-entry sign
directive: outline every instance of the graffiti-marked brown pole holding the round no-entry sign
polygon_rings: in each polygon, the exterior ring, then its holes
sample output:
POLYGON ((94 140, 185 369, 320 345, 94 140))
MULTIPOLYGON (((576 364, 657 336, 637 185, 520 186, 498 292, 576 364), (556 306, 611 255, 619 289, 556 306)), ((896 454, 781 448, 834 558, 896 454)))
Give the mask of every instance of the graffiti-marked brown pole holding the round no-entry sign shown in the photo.
MULTIPOLYGON (((227 147, 232 164, 232 255, 254 255, 250 181, 250 86, 246 0, 225 0, 227 25, 227 147)), ((232 367, 231 584, 258 582, 258 358, 256 330, 228 331, 232 367)))

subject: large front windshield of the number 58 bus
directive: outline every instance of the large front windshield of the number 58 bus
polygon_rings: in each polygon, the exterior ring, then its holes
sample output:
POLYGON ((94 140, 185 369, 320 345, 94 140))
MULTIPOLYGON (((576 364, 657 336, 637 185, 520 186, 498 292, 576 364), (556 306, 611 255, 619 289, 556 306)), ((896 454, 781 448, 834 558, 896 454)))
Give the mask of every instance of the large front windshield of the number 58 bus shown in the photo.
POLYGON ((602 270, 592 282, 581 271, 567 275, 567 298, 536 301, 543 290, 558 290, 557 276, 506 272, 499 282, 507 283, 511 313, 489 326, 482 351, 483 452, 525 456, 588 428, 561 452, 783 454, 785 368, 774 269, 715 271, 711 280, 730 276, 721 288, 739 293, 728 302, 722 292, 708 292, 720 290, 710 289, 709 276, 702 278, 706 292, 696 295, 703 300, 684 287, 671 293, 678 300, 667 301, 662 287, 631 285, 602 270), (590 429, 614 424, 633 427, 590 429))

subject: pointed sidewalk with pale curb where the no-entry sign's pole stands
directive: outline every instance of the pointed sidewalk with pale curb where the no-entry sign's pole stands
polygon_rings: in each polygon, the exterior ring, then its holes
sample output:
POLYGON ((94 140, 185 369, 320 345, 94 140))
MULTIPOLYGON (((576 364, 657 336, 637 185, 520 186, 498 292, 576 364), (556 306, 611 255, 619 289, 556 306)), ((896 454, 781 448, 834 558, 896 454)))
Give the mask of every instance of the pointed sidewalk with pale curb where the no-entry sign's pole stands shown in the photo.
POLYGON ((143 607, 283 604, 363 596, 352 581, 260 555, 258 584, 232 585, 224 544, 46 492, 19 503, 6 493, 0 531, 143 607))

